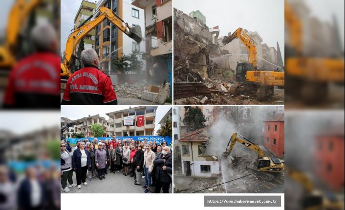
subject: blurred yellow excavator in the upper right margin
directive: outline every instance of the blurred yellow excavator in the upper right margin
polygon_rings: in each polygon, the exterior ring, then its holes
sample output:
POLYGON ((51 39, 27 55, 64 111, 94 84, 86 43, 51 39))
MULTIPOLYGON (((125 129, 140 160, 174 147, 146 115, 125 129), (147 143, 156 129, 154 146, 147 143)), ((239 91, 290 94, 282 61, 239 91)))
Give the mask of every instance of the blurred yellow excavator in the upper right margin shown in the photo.
POLYGON ((328 83, 344 85, 344 57, 308 57, 302 55, 302 21, 285 0, 285 25, 290 45, 285 45, 288 94, 307 103, 324 101, 328 83))

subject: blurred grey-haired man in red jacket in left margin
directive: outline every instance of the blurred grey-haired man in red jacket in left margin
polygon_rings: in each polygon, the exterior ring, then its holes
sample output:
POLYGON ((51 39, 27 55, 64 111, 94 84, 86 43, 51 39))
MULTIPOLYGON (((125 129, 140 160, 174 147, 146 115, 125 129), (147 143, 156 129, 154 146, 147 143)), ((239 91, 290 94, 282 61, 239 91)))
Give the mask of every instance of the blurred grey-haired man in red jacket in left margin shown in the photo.
POLYGON ((60 109, 59 38, 49 24, 31 31, 35 53, 20 60, 11 70, 4 95, 4 108, 60 109))

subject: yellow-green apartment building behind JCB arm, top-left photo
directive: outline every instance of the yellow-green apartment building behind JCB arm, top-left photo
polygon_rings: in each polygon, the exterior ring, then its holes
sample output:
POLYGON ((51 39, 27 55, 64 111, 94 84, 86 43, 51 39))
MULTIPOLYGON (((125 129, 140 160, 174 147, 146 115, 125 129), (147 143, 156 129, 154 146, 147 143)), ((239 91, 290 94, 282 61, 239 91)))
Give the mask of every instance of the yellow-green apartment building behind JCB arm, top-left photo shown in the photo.
MULTIPOLYGON (((96 9, 96 1, 83 0, 80 4, 78 12, 74 18, 74 28, 77 28, 82 24, 88 17, 90 17, 96 9)), ((90 31, 84 38, 84 48, 90 49, 95 48, 95 30, 90 31)), ((79 45, 77 45, 76 51, 78 51, 79 45)))

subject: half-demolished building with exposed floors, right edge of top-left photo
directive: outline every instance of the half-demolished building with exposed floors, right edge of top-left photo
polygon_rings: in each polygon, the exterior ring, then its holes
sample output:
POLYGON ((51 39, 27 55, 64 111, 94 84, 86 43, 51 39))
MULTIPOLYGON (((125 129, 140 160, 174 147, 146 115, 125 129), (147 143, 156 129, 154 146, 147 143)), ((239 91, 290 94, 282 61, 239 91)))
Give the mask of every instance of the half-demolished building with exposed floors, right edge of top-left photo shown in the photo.
MULTIPOLYGON (((146 69, 154 72, 155 82, 166 78, 172 84, 173 0, 134 0, 145 10, 146 69)), ((147 71, 149 78, 149 71, 147 71)))

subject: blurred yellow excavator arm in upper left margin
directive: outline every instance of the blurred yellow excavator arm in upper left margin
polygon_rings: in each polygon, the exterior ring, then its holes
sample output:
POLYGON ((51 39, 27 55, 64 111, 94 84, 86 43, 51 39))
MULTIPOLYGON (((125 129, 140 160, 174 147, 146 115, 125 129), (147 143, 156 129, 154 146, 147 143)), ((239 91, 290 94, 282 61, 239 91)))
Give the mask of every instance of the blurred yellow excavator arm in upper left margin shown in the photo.
POLYGON ((11 69, 17 61, 18 39, 23 23, 42 0, 16 0, 8 18, 4 45, 0 46, 0 69, 11 69))

